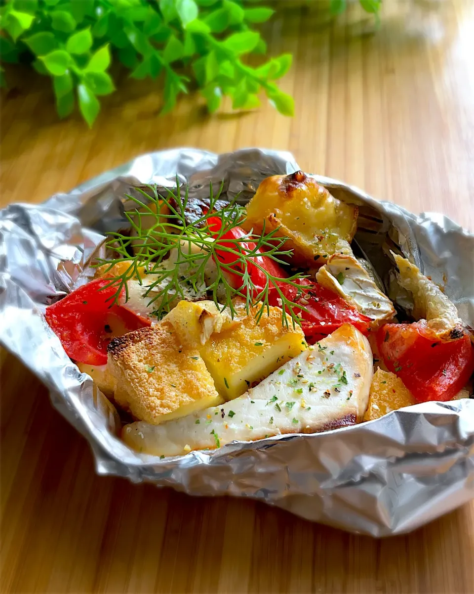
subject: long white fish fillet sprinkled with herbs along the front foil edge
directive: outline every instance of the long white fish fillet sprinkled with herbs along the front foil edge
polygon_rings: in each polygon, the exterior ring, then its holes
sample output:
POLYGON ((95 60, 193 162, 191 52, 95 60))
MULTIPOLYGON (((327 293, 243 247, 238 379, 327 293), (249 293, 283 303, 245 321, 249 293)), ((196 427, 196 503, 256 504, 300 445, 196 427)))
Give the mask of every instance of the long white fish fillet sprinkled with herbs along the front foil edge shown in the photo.
POLYGON ((361 421, 373 377, 367 339, 345 324, 242 396, 161 425, 123 428, 132 448, 157 456, 288 433, 313 433, 361 421))

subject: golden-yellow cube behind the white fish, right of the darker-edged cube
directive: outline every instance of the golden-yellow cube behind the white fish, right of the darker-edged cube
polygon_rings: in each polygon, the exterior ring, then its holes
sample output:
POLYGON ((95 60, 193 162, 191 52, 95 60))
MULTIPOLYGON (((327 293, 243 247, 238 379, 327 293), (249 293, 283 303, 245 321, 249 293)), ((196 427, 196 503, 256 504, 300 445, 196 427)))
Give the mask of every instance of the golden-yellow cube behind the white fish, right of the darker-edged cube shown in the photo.
MULTIPOLYGON (((245 310, 243 310, 244 312, 245 310)), ((282 326, 281 309, 271 307, 259 323, 258 308, 229 330, 214 333, 200 348, 219 394, 230 400, 263 380, 281 365, 307 349, 300 327, 282 326)))

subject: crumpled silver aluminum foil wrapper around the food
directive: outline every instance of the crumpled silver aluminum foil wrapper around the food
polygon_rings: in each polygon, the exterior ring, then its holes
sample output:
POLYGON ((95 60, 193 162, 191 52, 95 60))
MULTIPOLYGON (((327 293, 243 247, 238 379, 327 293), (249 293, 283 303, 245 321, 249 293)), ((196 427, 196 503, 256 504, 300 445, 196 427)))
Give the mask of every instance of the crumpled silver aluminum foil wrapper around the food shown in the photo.
MULTIPOLYGON (((206 197, 210 182, 224 180, 224 194, 244 202, 266 176, 298 169, 291 154, 271 150, 167 150, 138 157, 39 206, 1 210, 1 342, 46 384, 53 406, 87 438, 102 475, 190 495, 251 497, 350 532, 408 532, 474 497, 474 400, 428 402, 335 431, 160 460, 120 441, 113 405, 71 362, 42 315, 47 304, 87 282, 103 233, 125 224, 124 195, 133 187, 175 187, 178 179, 189 184, 190 195, 206 197)), ((472 233, 441 214, 415 216, 357 188, 314 177, 337 198, 359 205, 357 249, 400 304, 406 295, 393 285, 389 249, 446 285, 464 323, 474 326, 472 233)))

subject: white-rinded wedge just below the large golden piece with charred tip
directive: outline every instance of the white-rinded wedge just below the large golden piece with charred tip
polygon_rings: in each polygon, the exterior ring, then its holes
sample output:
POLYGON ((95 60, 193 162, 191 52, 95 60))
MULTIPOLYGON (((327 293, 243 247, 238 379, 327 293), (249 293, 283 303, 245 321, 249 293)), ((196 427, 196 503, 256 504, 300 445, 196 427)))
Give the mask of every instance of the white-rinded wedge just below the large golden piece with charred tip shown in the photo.
POLYGON ((341 295, 361 314, 372 318, 371 327, 377 328, 395 315, 392 301, 382 293, 367 270, 354 256, 335 254, 316 274, 316 280, 341 295))

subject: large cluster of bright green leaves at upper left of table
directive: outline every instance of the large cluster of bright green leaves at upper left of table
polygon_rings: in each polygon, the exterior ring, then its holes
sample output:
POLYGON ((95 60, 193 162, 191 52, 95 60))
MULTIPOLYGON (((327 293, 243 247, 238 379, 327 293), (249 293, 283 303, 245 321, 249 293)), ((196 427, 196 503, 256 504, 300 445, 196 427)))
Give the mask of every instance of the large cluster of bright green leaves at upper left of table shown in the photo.
MULTIPOLYGON (((164 78, 162 113, 194 85, 215 112, 222 96, 234 109, 259 106, 259 93, 284 115, 294 102, 275 81, 291 66, 291 55, 253 68, 249 53, 266 53, 252 30, 272 14, 259 0, 9 0, 0 8, 3 62, 29 62, 52 78, 59 116, 76 102, 91 126, 98 97, 115 90, 112 59, 132 78, 164 78)), ((3 84, 4 71, 0 71, 3 84)))

